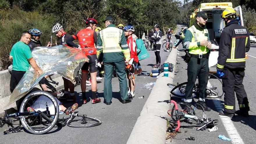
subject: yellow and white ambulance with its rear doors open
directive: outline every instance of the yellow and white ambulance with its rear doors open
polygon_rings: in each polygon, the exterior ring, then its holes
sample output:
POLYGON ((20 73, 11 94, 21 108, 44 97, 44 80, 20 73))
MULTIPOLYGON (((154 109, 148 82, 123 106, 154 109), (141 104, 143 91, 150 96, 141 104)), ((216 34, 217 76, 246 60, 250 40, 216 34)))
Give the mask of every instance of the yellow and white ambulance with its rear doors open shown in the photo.
MULTIPOLYGON (((210 17, 207 20, 206 28, 208 29, 209 38, 212 43, 212 49, 209 56, 209 67, 216 65, 218 58, 218 45, 220 42, 221 32, 225 28, 225 22, 222 19, 222 12, 226 8, 233 8, 231 2, 222 2, 222 3, 201 3, 198 8, 190 15, 189 27, 193 25, 195 21, 195 15, 199 11, 204 11, 207 13, 207 16, 210 17)), ((243 26, 243 15, 241 6, 234 8, 237 13, 237 18, 239 24, 243 26)))

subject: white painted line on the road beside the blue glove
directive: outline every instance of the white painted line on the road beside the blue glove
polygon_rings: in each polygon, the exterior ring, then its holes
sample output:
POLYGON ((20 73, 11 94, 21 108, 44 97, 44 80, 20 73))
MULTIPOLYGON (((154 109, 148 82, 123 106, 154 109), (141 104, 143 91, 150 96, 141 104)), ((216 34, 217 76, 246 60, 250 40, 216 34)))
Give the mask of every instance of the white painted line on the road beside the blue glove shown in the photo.
MULTIPOLYGON (((221 104, 220 99, 215 99, 214 106, 217 109, 217 111, 221 111, 224 109, 223 104, 221 104)), ((227 131, 227 134, 229 138, 231 139, 233 144, 244 144, 243 139, 240 137, 236 127, 234 126, 232 120, 230 117, 219 115, 221 118, 221 121, 227 131)))

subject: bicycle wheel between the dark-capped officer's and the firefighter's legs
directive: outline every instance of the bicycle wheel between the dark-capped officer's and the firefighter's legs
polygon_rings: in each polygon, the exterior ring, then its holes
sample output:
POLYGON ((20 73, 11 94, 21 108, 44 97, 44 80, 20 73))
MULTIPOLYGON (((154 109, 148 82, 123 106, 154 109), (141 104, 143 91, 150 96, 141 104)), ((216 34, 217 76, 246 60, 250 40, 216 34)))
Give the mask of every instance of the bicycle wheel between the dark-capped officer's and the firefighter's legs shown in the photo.
POLYGON ((206 87, 207 98, 222 97, 224 92, 222 90, 222 81, 214 74, 208 73, 208 83, 206 87))

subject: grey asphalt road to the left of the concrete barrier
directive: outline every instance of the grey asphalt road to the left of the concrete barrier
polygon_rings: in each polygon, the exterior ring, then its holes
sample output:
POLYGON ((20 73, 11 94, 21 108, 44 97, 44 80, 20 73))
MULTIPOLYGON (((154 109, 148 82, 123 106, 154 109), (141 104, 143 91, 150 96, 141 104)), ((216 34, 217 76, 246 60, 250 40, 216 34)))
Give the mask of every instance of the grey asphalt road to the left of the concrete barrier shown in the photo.
MULTIPOLYGON (((142 70, 145 73, 150 73, 152 65, 155 65, 154 51, 148 51, 150 57, 140 61, 142 70)), ((162 62, 164 62, 170 52, 160 51, 162 62)), ((97 118, 102 121, 102 125, 89 128, 72 128, 72 127, 55 127, 53 131, 44 135, 32 135, 27 132, 18 132, 3 134, 3 131, 8 129, 5 125, 0 128, 0 143, 90 143, 90 144, 125 144, 131 134, 131 131, 136 123, 137 118, 151 92, 151 90, 142 88, 145 83, 155 82, 157 79, 150 76, 136 76, 135 77, 135 98, 131 103, 122 104, 119 95, 118 78, 112 79, 113 99, 111 105, 103 103, 103 84, 104 79, 98 80, 97 92, 98 97, 102 99, 101 103, 81 104, 81 88, 75 88, 76 98, 79 104, 79 114, 86 114, 90 117, 97 118), (138 99, 140 96, 145 96, 145 99, 138 99)), ((90 87, 86 88, 86 95, 91 97, 90 87)), ((70 106, 72 103, 64 103, 70 106)), ((61 117, 66 115, 61 115, 61 117)))

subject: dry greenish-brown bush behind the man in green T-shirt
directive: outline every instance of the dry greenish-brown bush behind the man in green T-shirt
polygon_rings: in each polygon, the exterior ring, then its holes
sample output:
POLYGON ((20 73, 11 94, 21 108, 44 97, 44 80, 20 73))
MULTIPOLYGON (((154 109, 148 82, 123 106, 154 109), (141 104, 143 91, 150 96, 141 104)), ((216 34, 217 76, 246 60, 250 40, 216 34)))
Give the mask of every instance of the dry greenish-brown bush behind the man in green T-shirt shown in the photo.
MULTIPOLYGON (((23 31, 39 29, 43 33, 40 41, 46 46, 50 36, 53 35, 51 28, 54 23, 53 16, 42 15, 37 11, 25 12, 17 7, 0 10, 0 70, 6 70, 10 64, 10 50, 20 40, 23 31)), ((56 37, 53 35, 53 43, 55 40, 56 37)))

